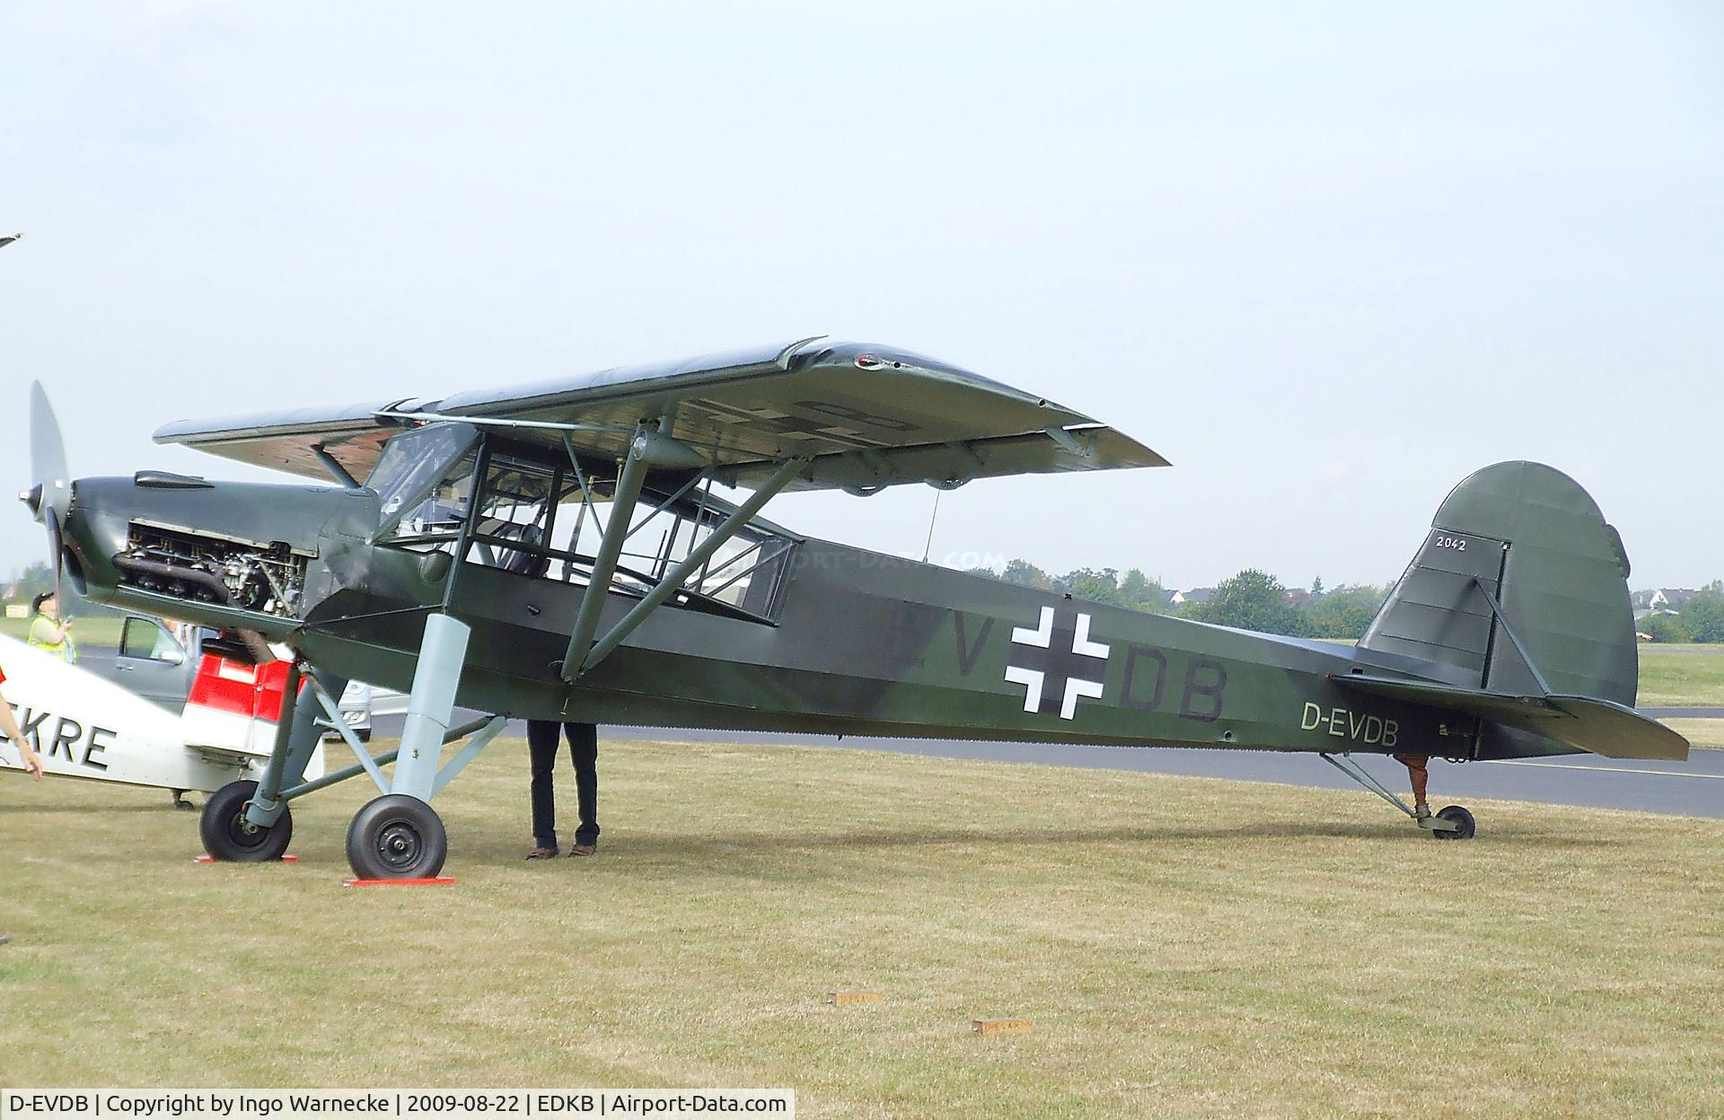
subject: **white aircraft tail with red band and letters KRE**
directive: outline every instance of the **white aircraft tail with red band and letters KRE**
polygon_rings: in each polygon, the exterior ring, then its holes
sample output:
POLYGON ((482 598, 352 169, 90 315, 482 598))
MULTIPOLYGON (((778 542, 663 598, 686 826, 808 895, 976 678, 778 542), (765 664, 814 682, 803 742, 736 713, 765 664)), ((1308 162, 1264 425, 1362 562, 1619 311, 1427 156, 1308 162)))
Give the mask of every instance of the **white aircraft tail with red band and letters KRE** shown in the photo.
MULTIPOLYGON (((212 793, 260 777, 274 746, 284 674, 267 665, 205 653, 179 713, 12 638, 0 636, 0 667, 48 775, 212 793)), ((312 767, 307 777, 321 777, 322 748, 312 767)), ((17 744, 0 736, 0 770, 22 768, 17 744)))

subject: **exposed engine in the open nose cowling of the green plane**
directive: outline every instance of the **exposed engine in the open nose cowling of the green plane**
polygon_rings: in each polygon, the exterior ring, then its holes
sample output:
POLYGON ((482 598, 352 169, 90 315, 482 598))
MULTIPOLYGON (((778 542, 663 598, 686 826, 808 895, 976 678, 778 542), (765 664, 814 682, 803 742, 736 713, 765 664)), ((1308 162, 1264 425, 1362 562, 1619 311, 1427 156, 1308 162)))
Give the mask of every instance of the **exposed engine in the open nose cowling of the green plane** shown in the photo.
POLYGON ((262 544, 133 522, 114 565, 122 582, 143 591, 295 617, 309 558, 284 541, 262 544))

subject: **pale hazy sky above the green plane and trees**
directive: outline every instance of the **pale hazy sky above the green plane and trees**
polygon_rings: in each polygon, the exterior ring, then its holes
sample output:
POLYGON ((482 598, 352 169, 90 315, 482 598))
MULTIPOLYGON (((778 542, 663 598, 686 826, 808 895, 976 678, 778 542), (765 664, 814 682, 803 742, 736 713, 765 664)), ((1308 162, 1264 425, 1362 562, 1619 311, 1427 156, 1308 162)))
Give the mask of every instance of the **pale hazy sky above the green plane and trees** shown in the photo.
POLYGON ((259 477, 150 432, 828 333, 1174 462, 948 493, 936 562, 1383 582, 1536 458, 1724 576, 1724 5, 645 7, 9 5, 3 489, 31 377, 74 476, 259 477))

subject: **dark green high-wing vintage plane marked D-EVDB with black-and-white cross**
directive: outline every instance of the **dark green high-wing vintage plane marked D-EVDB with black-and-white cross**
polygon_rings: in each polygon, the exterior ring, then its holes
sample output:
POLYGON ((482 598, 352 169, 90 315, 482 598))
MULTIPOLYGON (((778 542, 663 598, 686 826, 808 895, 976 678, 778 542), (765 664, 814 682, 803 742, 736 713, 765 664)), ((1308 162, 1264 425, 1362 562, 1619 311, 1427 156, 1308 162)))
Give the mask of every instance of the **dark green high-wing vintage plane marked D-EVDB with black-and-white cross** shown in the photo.
MULTIPOLYGON (((26 501, 79 594, 297 655, 262 779, 205 803, 203 841, 224 860, 278 856, 293 800, 369 775, 381 796, 348 829, 353 870, 434 875, 447 834, 429 801, 503 717, 1310 751, 1409 817, 1353 755, 1688 751, 1631 708, 1615 529, 1538 464, 1460 482, 1346 648, 1084 603, 764 520, 793 489, 1165 465, 1071 408, 888 346, 809 338, 155 434, 333 486, 152 470, 71 482, 40 386, 33 427, 26 501), (715 484, 752 495, 733 503, 715 484), (372 756, 350 737, 359 762, 307 781, 355 677, 410 689, 400 746, 372 756), (457 705, 497 715, 452 727, 457 705)), ((1474 831, 1460 806, 1419 824, 1474 831)))

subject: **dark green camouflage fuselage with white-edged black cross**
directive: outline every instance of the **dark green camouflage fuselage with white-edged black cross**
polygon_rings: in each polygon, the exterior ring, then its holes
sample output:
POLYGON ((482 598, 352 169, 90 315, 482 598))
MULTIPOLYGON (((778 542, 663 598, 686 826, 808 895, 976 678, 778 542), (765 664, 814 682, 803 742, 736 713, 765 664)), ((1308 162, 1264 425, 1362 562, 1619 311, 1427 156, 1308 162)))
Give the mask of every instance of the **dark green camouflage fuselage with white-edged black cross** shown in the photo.
MULTIPOLYGON (((407 689, 424 617, 448 574, 374 546, 364 489, 78 482, 71 522, 91 598, 257 629, 345 679, 407 689), (188 603, 103 563, 126 524, 219 527, 314 551, 298 619, 188 603)), ((796 544, 779 620, 655 610, 574 684, 557 674, 584 588, 457 567, 450 613, 472 627, 457 703, 602 724, 967 737, 1121 746, 1231 746, 1469 756, 1474 720, 1365 698, 1329 677, 1364 662, 1303 643, 1086 603, 845 544, 796 544)), ((607 596, 600 632, 636 600, 607 596)), ((1429 669, 1374 655, 1383 669, 1429 669)), ((1517 753, 1560 751, 1524 744, 1517 753)))

